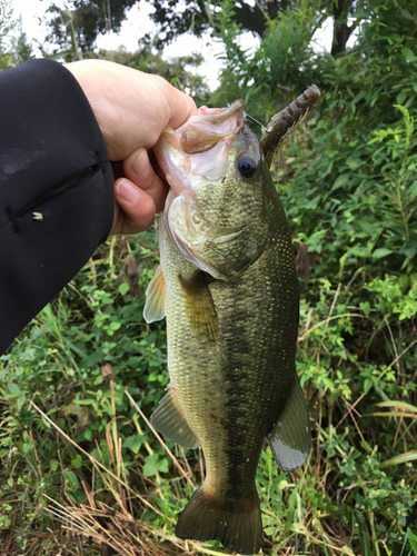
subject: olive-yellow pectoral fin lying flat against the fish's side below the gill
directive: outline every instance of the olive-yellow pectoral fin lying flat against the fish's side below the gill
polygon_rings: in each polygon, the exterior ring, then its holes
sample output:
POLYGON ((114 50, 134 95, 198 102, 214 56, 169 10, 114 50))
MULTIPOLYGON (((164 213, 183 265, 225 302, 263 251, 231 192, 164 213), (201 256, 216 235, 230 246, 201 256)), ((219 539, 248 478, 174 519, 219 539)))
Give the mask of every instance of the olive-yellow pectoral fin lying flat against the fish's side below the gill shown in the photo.
POLYGON ((218 321, 207 280, 212 280, 212 277, 206 272, 198 272, 190 280, 179 276, 192 330, 197 335, 206 335, 210 341, 214 341, 217 337, 218 321))

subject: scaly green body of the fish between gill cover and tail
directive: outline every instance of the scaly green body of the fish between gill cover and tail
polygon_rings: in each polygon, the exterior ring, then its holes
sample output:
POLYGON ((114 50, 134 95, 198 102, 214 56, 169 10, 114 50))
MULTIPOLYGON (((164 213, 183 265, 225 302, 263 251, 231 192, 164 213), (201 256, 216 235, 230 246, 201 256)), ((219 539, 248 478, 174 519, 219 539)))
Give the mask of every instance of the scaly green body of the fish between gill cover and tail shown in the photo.
POLYGON ((239 280, 208 285, 217 315, 217 334, 210 338, 193 329, 179 280, 198 269, 163 240, 166 230, 161 234, 171 387, 201 443, 210 490, 238 502, 254 489, 265 436, 289 395, 297 291, 294 281, 277 282, 282 275, 277 267, 285 262, 272 244, 239 280))

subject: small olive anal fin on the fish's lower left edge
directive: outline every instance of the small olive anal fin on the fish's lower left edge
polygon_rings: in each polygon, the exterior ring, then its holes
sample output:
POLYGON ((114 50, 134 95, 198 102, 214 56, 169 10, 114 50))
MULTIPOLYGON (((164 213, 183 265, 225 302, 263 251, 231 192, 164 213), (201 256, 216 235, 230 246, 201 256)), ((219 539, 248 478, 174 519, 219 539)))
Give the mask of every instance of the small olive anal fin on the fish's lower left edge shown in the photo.
POLYGON ((185 448, 197 448, 200 444, 182 415, 179 401, 172 389, 169 389, 160 400, 159 406, 150 418, 150 423, 163 436, 185 448))

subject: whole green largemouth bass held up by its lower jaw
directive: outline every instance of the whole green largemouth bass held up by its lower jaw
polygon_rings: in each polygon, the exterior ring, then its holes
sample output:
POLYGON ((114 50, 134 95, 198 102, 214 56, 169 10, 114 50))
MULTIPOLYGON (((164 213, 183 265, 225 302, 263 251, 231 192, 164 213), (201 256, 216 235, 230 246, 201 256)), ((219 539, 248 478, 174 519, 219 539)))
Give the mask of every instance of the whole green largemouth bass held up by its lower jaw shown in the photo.
POLYGON ((257 554, 265 438, 284 470, 310 448, 287 218, 240 100, 168 127, 153 152, 170 190, 143 317, 166 317, 170 385, 151 424, 183 447, 201 446, 206 461, 176 535, 257 554))

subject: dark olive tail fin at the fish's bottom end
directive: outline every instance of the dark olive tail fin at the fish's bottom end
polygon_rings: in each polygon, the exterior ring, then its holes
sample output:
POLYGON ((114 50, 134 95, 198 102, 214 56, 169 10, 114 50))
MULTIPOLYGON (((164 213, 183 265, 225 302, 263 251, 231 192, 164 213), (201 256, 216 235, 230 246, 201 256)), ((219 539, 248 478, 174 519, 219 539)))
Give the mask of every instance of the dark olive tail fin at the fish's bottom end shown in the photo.
POLYGON ((220 540, 229 550, 258 554, 262 546, 262 520, 258 493, 227 504, 198 488, 180 514, 176 535, 195 540, 220 540))

